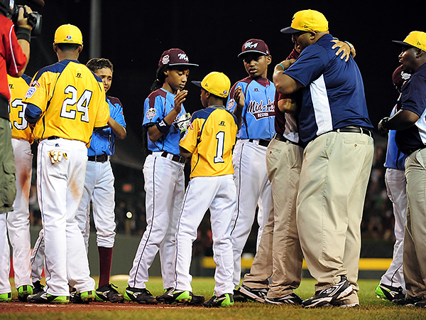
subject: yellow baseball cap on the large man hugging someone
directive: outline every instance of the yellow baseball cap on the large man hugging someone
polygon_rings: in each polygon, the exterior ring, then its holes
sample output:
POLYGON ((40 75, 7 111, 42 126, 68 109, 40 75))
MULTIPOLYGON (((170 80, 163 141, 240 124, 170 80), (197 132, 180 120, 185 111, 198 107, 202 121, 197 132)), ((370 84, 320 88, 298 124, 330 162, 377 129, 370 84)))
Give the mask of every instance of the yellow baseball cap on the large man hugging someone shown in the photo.
POLYGON ((282 33, 296 33, 299 31, 328 31, 328 21, 324 14, 315 10, 297 11, 291 21, 291 26, 281 29, 282 33))

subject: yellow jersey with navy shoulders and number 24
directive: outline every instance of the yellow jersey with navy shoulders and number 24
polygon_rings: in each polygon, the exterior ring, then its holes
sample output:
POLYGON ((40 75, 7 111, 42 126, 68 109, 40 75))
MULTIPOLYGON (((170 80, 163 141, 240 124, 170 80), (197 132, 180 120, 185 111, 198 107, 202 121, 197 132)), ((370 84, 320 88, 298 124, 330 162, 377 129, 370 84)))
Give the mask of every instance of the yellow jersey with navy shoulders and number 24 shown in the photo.
POLYGON ((104 127, 109 107, 102 80, 77 60, 62 60, 35 74, 26 92, 26 116, 38 119, 34 139, 60 137, 88 144, 104 127))

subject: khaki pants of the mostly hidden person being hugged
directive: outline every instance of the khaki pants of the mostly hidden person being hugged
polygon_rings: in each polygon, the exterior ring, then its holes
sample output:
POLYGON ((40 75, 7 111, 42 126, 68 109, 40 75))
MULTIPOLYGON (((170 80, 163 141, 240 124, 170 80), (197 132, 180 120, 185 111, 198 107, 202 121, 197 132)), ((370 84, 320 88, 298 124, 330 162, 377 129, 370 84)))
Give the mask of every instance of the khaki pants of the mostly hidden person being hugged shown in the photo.
POLYGON ((266 151, 266 166, 272 188, 272 207, 263 229, 250 274, 243 285, 268 287, 268 298, 284 297, 299 287, 302 278, 302 250, 296 227, 296 196, 303 149, 273 139, 266 151))

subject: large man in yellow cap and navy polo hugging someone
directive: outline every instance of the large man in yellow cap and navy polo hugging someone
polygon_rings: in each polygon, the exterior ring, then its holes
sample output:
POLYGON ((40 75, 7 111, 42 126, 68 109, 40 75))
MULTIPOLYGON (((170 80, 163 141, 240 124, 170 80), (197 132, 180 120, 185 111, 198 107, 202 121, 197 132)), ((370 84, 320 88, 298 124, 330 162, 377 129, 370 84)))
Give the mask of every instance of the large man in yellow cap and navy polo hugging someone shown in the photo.
POLYGON ((281 32, 291 33, 302 53, 288 70, 280 72, 277 65, 273 78, 280 93, 302 90, 299 134, 306 147, 297 229, 307 267, 317 279, 305 307, 359 306, 360 225, 373 161, 361 73, 353 58, 345 63, 337 57, 328 30, 320 12, 298 11, 281 32))

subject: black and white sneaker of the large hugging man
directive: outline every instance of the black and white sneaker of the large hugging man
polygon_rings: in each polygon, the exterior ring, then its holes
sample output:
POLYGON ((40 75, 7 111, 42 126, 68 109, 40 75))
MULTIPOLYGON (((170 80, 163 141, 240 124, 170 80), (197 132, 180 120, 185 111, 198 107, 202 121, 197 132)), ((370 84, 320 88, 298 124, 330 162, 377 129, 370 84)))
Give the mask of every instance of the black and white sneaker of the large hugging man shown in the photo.
POLYGON ((310 299, 303 300, 302 305, 305 308, 315 308, 317 306, 324 306, 332 302, 342 299, 353 291, 351 284, 345 276, 340 276, 340 282, 334 284, 333 287, 322 289, 310 297, 310 299))

